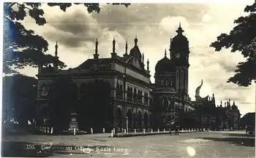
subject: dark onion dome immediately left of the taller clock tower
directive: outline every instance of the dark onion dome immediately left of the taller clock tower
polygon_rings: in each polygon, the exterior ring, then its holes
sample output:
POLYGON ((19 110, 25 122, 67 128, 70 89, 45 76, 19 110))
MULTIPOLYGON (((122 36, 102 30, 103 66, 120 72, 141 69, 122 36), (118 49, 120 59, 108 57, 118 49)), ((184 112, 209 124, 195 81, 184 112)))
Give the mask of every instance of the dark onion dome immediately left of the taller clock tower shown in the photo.
POLYGON ((164 58, 162 58, 161 60, 159 60, 157 62, 155 71, 157 74, 162 74, 162 73, 164 74, 165 72, 173 72, 173 71, 175 72, 176 67, 175 67, 175 64, 173 63, 173 61, 168 59, 165 55, 164 58))

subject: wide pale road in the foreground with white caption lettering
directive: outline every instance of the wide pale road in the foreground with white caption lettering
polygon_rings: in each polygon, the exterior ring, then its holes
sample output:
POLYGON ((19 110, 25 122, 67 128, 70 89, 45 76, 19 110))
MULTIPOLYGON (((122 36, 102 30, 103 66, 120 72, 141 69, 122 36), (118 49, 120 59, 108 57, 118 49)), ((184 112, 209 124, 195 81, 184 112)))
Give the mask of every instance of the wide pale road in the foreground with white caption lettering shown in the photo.
POLYGON ((36 154, 35 151, 43 154, 48 151, 46 146, 42 150, 43 143, 48 146, 53 143, 51 148, 59 149, 54 154, 47 152, 45 157, 255 157, 255 137, 249 137, 244 132, 183 133, 130 138, 108 138, 109 135, 12 135, 2 138, 5 142, 2 148, 6 155, 12 157, 35 157, 36 155, 28 155, 36 154), (24 148, 26 155, 20 155, 24 148))

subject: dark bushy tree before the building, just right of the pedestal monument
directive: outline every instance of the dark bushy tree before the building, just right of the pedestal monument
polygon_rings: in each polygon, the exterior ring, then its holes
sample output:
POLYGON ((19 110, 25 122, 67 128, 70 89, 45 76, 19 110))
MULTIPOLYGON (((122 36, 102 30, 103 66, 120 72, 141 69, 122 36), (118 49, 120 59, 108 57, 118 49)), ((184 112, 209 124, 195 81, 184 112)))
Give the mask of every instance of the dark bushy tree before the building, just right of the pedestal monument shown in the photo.
POLYGON ((102 132, 110 131, 113 125, 113 106, 110 104, 110 84, 102 80, 84 83, 80 87, 78 125, 80 129, 102 132))

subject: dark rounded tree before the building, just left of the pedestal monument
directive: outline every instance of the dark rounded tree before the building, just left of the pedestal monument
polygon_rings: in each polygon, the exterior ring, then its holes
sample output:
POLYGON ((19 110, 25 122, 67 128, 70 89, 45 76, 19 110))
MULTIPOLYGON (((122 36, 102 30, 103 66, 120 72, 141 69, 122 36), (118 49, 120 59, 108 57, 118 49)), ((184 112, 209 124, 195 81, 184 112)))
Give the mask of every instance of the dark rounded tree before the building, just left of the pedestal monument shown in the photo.
POLYGON ((78 87, 71 79, 59 78, 50 86, 47 112, 50 117, 50 127, 56 129, 56 132, 69 128, 70 114, 75 112, 77 98, 78 87))

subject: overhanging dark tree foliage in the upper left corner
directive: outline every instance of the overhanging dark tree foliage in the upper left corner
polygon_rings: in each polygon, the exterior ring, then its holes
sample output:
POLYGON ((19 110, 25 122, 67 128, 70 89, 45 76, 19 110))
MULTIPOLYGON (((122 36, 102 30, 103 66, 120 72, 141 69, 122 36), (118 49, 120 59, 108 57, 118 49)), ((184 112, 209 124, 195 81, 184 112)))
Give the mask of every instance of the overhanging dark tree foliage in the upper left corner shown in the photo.
MULTIPOLYGON (((75 3, 81 4, 81 3, 75 3)), ((6 2, 4 3, 4 74, 18 73, 16 68, 24 66, 36 67, 39 64, 47 65, 56 61, 52 55, 45 55, 48 50, 48 42, 42 37, 35 35, 34 31, 26 30, 18 21, 24 20, 29 11, 29 16, 34 18, 37 25, 44 25, 46 22, 44 10, 41 9, 41 3, 23 3, 6 2), (18 10, 14 9, 17 6, 18 10)), ((99 13, 99 4, 83 3, 89 13, 99 13)), ((118 5, 118 4, 113 4, 118 5)), ((128 7, 129 4, 121 4, 128 7)), ((66 11, 72 3, 48 3, 48 6, 59 6, 62 11, 66 11)), ((65 65, 57 60, 60 68, 65 65)))

